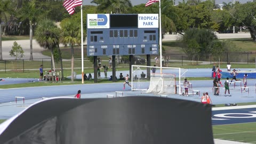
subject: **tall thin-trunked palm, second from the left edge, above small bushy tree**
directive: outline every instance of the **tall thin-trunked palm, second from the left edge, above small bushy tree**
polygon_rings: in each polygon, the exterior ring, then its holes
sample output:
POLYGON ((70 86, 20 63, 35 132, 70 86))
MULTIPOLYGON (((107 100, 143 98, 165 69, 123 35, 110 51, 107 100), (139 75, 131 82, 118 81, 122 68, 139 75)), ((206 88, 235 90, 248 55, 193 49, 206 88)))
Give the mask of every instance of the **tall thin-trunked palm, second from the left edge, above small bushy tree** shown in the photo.
POLYGON ((31 2, 26 2, 23 3, 21 11, 21 21, 22 22, 27 22, 30 26, 30 31, 29 31, 29 39, 30 39, 30 60, 33 60, 33 46, 32 46, 32 41, 33 41, 33 23, 36 22, 36 18, 38 16, 39 10, 36 9, 35 6, 35 0, 31 2))

